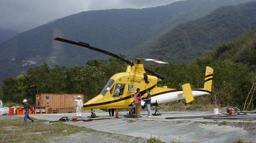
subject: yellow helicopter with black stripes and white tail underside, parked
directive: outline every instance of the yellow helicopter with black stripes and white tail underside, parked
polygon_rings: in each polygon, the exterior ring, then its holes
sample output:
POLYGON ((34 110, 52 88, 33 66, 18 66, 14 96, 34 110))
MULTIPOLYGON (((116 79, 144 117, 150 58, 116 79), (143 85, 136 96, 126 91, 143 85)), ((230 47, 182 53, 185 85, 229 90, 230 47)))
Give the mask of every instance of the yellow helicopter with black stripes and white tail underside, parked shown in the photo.
MULTIPOLYGON (((150 90, 151 93, 151 104, 156 106, 154 115, 160 115, 159 103, 171 102, 180 99, 184 99, 186 103, 194 100, 196 96, 209 95, 211 93, 211 84, 214 70, 210 67, 206 67, 205 71, 205 82, 203 89, 191 90, 190 84, 182 85, 182 90, 170 89, 165 87, 158 87, 157 84, 164 79, 163 76, 144 68, 141 61, 152 61, 160 64, 167 64, 153 59, 140 59, 137 58, 137 63, 133 63, 121 56, 105 51, 96 47, 90 46, 88 43, 74 42, 62 38, 54 38, 54 40, 77 45, 83 48, 92 49, 104 54, 111 55, 121 61, 129 64, 126 68, 126 72, 117 73, 113 75, 109 81, 105 84, 105 87, 100 92, 100 94, 88 102, 84 103, 84 109, 91 109, 92 118, 96 115, 93 109, 109 109, 109 108, 130 108, 130 115, 135 117, 134 97, 136 89, 140 89, 142 97, 146 97, 146 91, 150 90), (148 75, 151 74, 151 75, 148 75)), ((144 101, 141 102, 142 107, 144 106, 144 101)))

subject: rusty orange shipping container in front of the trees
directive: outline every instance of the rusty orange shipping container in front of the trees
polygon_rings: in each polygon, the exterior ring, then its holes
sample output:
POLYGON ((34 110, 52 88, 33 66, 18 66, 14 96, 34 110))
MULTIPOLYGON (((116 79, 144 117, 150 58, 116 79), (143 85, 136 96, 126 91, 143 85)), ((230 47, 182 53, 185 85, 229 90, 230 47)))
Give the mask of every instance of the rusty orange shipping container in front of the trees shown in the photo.
POLYGON ((57 112, 75 112, 78 95, 84 103, 83 94, 36 94, 35 95, 35 106, 39 108, 45 108, 48 113, 57 112))

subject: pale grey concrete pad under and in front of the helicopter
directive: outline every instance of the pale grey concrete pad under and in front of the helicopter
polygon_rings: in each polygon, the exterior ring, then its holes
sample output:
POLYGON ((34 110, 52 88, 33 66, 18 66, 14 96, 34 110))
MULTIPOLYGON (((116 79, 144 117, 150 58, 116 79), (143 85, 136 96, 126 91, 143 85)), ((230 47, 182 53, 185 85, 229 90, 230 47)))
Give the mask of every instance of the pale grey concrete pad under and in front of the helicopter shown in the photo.
MULTIPOLYGON (((142 118, 124 118, 126 112, 119 112, 118 119, 109 117, 108 112, 96 113, 99 118, 111 118, 106 120, 94 120, 91 122, 65 122, 80 127, 92 128, 99 131, 130 135, 134 137, 157 137, 162 141, 172 142, 236 142, 238 139, 243 141, 256 141, 254 131, 256 124, 245 127, 235 126, 238 122, 252 122, 256 120, 211 120, 211 119, 173 119, 167 120, 166 117, 180 116, 206 116, 213 115, 213 111, 169 111, 161 116, 147 118, 147 112, 142 111, 142 118), (231 125, 219 126, 218 122, 230 122, 231 125), (206 123, 206 124, 205 124, 206 123)), ((88 119, 91 113, 83 113, 81 119, 88 119)), ((75 113, 55 113, 49 115, 31 115, 32 118, 57 121, 61 117, 72 118, 75 113)))

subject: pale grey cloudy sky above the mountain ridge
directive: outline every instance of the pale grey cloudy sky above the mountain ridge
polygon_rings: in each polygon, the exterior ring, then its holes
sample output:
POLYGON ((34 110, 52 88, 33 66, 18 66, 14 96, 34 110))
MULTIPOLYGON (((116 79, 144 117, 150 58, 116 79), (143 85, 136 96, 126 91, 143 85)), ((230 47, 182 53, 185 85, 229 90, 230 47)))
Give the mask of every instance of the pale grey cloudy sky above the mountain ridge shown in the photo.
POLYGON ((0 0, 0 28, 24 32, 54 19, 90 10, 147 8, 180 0, 0 0))

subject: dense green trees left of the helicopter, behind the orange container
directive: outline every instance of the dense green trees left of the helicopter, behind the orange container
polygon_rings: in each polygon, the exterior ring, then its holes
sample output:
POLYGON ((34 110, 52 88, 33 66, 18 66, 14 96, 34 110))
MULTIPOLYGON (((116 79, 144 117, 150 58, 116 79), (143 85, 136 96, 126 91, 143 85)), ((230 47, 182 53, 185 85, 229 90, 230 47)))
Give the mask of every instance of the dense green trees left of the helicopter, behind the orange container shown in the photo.
POLYGON ((34 101, 38 93, 83 93, 91 99, 103 88, 106 81, 115 73, 124 71, 124 63, 110 58, 109 61, 92 60, 87 66, 74 66, 70 69, 46 63, 30 68, 27 74, 16 78, 5 78, 0 99, 5 102, 21 102, 24 98, 34 101))

